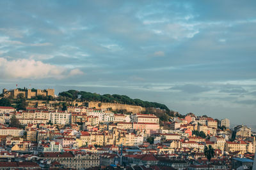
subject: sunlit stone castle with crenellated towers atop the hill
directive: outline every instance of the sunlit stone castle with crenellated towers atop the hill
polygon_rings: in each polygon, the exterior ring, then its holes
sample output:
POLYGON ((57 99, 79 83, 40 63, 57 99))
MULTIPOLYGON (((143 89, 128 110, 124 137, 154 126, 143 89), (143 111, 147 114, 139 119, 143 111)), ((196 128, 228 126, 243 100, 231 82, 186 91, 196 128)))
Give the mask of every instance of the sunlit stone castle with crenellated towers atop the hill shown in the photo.
POLYGON ((19 94, 23 94, 27 99, 31 99, 36 96, 52 96, 54 97, 54 89, 13 89, 7 90, 3 89, 4 97, 12 97, 14 99, 17 98, 19 94))

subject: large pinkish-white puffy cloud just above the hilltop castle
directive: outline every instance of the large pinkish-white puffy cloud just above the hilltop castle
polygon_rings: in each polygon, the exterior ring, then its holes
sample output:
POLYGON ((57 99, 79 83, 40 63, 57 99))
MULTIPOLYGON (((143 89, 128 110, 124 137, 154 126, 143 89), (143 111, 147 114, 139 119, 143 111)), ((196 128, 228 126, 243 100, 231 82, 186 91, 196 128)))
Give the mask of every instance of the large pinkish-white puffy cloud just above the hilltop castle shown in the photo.
POLYGON ((83 72, 79 69, 68 70, 65 67, 45 64, 36 60, 6 60, 0 58, 0 73, 1 78, 62 79, 68 76, 82 74, 83 72))

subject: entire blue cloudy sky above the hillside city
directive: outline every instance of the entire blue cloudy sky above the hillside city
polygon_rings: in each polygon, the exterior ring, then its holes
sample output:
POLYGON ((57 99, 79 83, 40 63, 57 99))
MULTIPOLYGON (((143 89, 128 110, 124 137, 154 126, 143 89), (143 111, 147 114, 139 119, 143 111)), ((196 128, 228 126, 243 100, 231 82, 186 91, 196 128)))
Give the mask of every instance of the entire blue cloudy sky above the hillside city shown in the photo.
POLYGON ((0 1, 0 89, 124 94, 256 120, 256 1, 0 1))

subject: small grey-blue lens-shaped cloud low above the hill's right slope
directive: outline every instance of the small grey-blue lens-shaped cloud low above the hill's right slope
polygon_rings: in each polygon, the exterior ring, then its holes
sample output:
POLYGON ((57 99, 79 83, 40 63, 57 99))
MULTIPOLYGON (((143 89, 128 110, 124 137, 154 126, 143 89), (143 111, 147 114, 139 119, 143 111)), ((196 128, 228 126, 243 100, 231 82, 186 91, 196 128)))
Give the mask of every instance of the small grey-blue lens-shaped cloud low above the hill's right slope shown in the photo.
POLYGON ((211 90, 211 88, 200 86, 200 85, 186 84, 186 85, 175 85, 171 87, 170 90, 181 90, 182 92, 187 92, 187 93, 200 93, 200 92, 207 92, 211 90))

